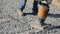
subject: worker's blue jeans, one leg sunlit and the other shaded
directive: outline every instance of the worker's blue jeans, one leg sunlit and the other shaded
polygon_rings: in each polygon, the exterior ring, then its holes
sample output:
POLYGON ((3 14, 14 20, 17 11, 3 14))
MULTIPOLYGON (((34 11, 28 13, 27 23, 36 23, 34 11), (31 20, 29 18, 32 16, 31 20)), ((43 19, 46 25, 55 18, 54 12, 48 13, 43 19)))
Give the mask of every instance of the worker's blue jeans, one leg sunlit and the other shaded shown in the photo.
MULTIPOLYGON (((27 0, 20 0, 18 9, 23 11, 24 8, 25 8, 25 6, 26 6, 26 2, 27 2, 27 0)), ((37 7, 38 7, 38 0, 34 0, 34 3, 33 3, 33 10, 36 10, 37 7)))

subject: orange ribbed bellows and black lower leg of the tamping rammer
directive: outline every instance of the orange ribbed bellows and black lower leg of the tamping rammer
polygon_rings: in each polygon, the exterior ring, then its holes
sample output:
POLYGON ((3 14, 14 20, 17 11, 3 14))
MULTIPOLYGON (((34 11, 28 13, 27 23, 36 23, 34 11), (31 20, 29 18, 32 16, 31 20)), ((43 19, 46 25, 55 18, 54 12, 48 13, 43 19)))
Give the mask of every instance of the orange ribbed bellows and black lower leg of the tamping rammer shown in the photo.
POLYGON ((39 21, 40 21, 41 26, 51 25, 51 24, 44 23, 48 15, 48 12, 49 12, 49 5, 44 5, 44 6, 39 7, 38 16, 39 16, 39 21))

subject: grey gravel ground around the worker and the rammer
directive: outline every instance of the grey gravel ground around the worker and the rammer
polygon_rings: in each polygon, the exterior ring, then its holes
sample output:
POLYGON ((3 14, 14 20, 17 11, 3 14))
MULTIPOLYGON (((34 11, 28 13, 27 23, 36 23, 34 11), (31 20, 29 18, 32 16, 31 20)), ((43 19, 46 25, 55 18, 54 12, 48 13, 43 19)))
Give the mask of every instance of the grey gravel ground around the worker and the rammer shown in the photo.
MULTIPOLYGON (((32 12, 32 2, 29 0, 24 9, 25 13, 32 12)), ((60 34, 60 29, 35 32, 30 22, 38 20, 36 15, 18 16, 19 0, 0 0, 0 34, 60 34)), ((50 12, 45 21, 60 25, 60 7, 50 5, 50 12)))

